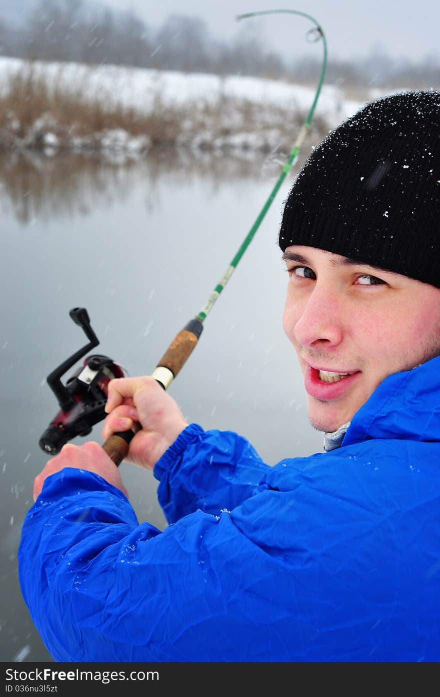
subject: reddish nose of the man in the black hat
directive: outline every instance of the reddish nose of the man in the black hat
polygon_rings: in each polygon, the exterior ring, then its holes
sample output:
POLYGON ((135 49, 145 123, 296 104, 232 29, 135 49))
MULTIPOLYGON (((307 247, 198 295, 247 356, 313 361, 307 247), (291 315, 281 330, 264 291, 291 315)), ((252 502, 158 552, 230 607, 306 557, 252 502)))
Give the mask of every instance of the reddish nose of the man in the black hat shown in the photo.
MULTIPOLYGON (((307 298, 293 304, 291 316, 293 337, 308 348, 338 346, 344 334, 344 303, 327 284, 314 284, 307 298)), ((289 313, 288 313, 289 314, 289 313)))

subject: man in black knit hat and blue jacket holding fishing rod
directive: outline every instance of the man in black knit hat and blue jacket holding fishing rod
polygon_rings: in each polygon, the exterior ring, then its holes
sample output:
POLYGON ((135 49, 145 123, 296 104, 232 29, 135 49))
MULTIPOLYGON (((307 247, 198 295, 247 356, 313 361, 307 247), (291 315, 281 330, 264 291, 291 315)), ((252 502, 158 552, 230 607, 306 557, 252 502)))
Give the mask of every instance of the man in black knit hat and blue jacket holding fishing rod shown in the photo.
MULTIPOLYGON (((325 450, 268 466, 153 378, 109 385, 170 524, 96 443, 35 481, 20 583, 57 661, 437 661, 440 94, 377 100, 314 150, 280 247, 284 328, 325 450)), ((280 372, 283 367, 280 367, 280 372)))

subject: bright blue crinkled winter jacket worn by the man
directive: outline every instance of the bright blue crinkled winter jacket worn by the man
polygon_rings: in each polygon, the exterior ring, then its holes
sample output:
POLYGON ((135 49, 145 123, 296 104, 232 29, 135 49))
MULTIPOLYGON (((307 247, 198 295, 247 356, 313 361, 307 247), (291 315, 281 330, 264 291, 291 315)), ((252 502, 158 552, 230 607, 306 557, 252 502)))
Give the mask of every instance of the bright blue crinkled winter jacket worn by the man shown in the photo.
POLYGON ((342 447, 264 464, 191 424, 155 466, 169 521, 73 468, 19 573, 56 661, 439 661, 440 357, 388 376, 342 447))

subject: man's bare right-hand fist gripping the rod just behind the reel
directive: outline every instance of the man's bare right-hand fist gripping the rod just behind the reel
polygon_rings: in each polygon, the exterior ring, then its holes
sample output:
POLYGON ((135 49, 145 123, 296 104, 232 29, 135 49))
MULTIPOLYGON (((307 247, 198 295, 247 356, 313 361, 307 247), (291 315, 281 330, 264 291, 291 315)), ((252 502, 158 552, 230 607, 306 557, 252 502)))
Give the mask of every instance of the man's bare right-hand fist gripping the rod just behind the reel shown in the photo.
POLYGON ((109 382, 103 438, 142 426, 130 442, 126 461, 152 470, 188 426, 178 404, 151 376, 114 378, 109 382))

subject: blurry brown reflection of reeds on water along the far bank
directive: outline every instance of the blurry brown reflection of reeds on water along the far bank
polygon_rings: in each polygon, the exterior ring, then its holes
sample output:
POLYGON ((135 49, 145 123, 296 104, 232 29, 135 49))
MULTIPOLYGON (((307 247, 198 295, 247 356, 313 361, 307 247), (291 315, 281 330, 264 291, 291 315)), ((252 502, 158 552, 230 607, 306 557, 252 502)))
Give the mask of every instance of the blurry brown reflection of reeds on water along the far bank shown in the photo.
POLYGON ((142 181, 144 203, 152 212, 160 195, 158 181, 164 174, 176 186, 203 178, 215 193, 222 181, 232 185, 243 178, 259 181, 272 177, 275 184, 287 156, 278 151, 265 157, 252 151, 225 157, 225 153, 169 150, 139 159, 67 153, 47 157, 31 151, 2 154, 0 205, 3 213, 12 213, 23 224, 36 217, 50 220, 61 214, 89 215, 115 198, 125 201, 135 183, 142 181))

